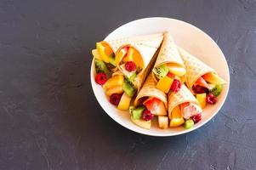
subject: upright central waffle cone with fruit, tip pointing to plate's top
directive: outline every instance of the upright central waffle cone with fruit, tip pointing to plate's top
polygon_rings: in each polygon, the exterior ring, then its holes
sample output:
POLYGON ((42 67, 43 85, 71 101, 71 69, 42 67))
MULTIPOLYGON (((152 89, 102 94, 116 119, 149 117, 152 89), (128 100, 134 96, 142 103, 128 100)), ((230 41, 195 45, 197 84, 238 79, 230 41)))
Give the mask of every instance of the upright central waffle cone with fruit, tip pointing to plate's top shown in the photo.
POLYGON ((163 34, 162 47, 153 68, 156 88, 165 94, 169 91, 177 93, 185 77, 185 65, 179 51, 168 32, 163 34))

